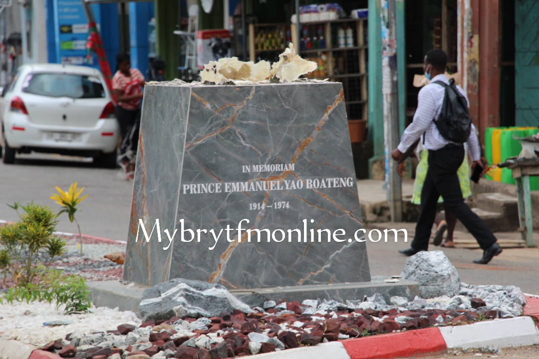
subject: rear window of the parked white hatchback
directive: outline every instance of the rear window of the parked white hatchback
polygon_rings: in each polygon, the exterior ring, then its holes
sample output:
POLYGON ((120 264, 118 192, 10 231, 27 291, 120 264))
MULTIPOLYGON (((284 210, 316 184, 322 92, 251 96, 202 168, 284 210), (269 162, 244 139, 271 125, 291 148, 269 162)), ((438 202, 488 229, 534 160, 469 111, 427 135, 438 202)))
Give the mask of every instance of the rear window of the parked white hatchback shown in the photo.
POLYGON ((37 73, 29 74, 23 82, 25 93, 49 97, 101 98, 105 90, 97 76, 37 73))

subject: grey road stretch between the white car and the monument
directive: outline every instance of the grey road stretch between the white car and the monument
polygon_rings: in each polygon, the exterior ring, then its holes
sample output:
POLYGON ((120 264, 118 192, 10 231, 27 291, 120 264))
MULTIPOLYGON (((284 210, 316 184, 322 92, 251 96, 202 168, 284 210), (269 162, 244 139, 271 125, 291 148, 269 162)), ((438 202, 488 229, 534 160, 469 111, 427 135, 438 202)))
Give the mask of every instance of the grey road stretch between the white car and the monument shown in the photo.
MULTIPOLYGON (((126 241, 133 181, 121 177, 120 170, 96 168, 91 159, 52 154, 18 155, 14 165, 0 161, 0 220, 16 221, 15 210, 5 203, 31 201, 60 207, 49 197, 55 186, 66 191, 78 181, 86 187, 88 198, 80 203, 81 212, 75 215, 83 234, 126 241)), ((66 214, 60 216, 59 231, 77 233, 77 226, 66 214)))

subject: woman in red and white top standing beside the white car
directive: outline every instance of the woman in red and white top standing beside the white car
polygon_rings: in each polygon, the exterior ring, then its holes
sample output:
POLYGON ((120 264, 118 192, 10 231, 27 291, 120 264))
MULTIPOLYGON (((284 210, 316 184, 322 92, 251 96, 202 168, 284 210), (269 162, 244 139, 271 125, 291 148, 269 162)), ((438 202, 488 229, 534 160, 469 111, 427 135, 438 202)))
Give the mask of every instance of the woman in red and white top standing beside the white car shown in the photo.
POLYGON ((139 144, 140 103, 145 83, 142 73, 136 68, 131 68, 129 55, 125 52, 118 53, 112 87, 116 102, 118 102, 116 118, 122 136, 120 163, 125 169, 127 180, 133 179, 135 172, 136 151, 139 144))

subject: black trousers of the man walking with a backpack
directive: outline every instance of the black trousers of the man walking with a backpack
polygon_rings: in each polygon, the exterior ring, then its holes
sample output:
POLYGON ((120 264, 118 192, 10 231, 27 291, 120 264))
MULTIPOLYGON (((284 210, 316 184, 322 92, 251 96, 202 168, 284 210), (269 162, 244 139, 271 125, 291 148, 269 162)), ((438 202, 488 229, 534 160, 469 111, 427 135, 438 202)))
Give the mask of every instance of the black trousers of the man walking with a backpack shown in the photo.
POLYGON ((421 191, 421 212, 416 225, 412 248, 427 250, 432 224, 436 216, 436 204, 440 195, 444 206, 464 224, 482 249, 488 248, 496 237, 462 198, 457 170, 464 160, 464 146, 447 145, 442 149, 429 150, 429 170, 421 191))

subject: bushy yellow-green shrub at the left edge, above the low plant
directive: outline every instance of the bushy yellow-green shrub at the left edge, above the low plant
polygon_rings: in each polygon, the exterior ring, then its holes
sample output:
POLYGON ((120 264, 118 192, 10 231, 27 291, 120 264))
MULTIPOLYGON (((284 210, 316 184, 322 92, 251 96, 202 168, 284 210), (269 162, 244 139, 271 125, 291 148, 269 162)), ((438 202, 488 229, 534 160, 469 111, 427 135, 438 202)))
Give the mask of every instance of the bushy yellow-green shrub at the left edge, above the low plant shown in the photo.
MULTIPOLYGON (((10 207, 18 210, 19 205, 10 207)), ((4 283, 9 274, 17 286, 39 285, 52 259, 64 254, 66 243, 53 235, 58 221, 51 207, 32 202, 20 208, 20 220, 0 228, 0 270, 4 283)))

